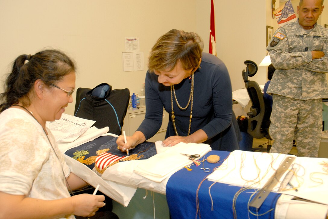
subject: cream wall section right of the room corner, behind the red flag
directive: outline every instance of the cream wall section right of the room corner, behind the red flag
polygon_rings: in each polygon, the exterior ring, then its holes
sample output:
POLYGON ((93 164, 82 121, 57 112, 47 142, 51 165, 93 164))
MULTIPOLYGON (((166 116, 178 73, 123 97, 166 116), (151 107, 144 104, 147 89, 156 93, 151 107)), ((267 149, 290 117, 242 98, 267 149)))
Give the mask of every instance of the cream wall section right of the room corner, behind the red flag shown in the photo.
MULTIPOLYGON (((205 41, 208 51, 210 29, 210 0, 197 0, 197 32, 205 41), (206 4, 205 4, 206 2, 206 4)), ((215 34, 217 56, 226 64, 232 89, 245 88, 242 70, 245 60, 260 64, 266 55, 265 1, 215 0, 215 34)), ((252 80, 266 82, 266 67, 259 66, 252 80)), ((233 106, 236 116, 246 115, 248 109, 239 104, 233 106)))

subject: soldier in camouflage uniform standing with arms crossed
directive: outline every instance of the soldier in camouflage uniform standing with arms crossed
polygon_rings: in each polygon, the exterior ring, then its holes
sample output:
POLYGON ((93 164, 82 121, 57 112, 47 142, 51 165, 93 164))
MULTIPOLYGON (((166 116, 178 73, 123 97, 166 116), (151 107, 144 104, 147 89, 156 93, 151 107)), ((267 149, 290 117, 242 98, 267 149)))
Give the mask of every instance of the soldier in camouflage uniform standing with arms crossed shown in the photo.
POLYGON ((267 90, 273 94, 272 153, 289 153, 295 137, 298 156, 318 156, 322 98, 328 97, 328 29, 316 23, 322 3, 301 0, 297 21, 278 28, 267 47, 276 68, 267 90))

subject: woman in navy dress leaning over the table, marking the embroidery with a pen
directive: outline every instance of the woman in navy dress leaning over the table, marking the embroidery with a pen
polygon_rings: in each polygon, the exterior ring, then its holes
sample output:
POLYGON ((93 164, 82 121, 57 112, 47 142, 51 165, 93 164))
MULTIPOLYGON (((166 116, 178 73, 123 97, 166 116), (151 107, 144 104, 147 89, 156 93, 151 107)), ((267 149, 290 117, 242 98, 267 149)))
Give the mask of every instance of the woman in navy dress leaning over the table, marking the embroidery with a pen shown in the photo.
POLYGON ((126 144, 123 136, 118 137, 121 151, 156 134, 163 107, 170 114, 163 146, 185 142, 207 143, 214 150, 238 149, 228 70, 219 58, 202 50, 203 43, 193 32, 173 29, 157 40, 145 80, 145 119, 126 144))

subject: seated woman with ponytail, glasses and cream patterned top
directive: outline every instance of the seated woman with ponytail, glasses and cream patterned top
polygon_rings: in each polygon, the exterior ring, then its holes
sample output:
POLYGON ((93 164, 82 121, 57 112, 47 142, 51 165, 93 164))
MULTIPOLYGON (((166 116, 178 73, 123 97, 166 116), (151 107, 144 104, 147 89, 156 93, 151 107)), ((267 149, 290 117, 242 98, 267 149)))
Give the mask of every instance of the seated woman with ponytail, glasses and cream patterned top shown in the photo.
POLYGON ((92 216, 103 195, 70 191, 87 183, 72 173, 46 121, 73 101, 75 66, 57 50, 20 55, 0 94, 0 218, 92 216), (58 89, 59 88, 59 89, 58 89))

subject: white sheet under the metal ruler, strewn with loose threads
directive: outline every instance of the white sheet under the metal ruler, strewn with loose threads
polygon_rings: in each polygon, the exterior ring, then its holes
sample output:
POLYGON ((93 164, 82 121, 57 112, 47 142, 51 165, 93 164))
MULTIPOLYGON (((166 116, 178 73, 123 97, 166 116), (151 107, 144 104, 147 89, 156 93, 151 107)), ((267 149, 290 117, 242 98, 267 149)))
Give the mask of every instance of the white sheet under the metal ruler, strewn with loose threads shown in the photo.
MULTIPOLYGON (((293 155, 236 150, 207 178, 220 183, 260 189, 287 156, 293 155)), ((328 165, 328 158, 296 157, 293 164, 296 171, 290 182, 297 191, 287 186, 281 193, 328 205, 328 174, 327 166, 324 165, 328 165)), ((288 171, 293 168, 291 166, 288 171)), ((280 183, 277 183, 273 191, 277 191, 279 186, 280 183)))

